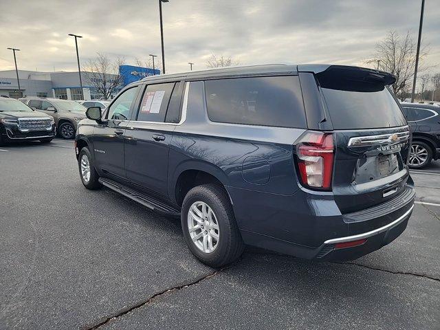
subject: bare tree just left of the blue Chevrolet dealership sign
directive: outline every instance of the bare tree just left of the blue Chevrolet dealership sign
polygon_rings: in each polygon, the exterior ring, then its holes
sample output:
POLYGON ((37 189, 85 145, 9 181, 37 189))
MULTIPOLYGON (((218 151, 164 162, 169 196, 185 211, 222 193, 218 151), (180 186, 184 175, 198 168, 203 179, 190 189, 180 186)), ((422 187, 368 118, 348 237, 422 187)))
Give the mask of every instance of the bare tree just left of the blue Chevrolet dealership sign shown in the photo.
POLYGON ((112 94, 122 87, 123 77, 119 72, 120 65, 123 65, 123 57, 111 61, 109 56, 96 53, 97 56, 86 62, 84 72, 88 83, 108 100, 112 94))

